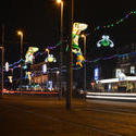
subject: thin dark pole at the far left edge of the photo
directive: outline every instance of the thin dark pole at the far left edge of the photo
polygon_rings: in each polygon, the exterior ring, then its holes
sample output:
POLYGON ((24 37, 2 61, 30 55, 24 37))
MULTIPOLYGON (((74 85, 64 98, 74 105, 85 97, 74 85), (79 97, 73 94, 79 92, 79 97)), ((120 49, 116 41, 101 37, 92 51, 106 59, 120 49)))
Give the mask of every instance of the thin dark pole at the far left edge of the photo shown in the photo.
POLYGON ((1 52, 2 52, 2 60, 1 60, 1 92, 0 95, 2 96, 2 90, 4 86, 4 72, 3 72, 3 65, 4 65, 4 25, 2 25, 2 45, 1 45, 1 52))

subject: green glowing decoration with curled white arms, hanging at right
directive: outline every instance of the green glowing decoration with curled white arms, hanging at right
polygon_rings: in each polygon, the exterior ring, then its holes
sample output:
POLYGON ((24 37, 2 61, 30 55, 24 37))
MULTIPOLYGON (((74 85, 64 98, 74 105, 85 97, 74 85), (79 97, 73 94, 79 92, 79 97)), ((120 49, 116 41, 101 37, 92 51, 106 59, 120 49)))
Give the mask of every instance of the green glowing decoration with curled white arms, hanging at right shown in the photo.
POLYGON ((110 38, 109 36, 103 35, 102 39, 97 42, 97 47, 101 47, 101 46, 103 46, 103 47, 110 46, 111 48, 114 47, 113 41, 110 40, 109 38, 110 38))

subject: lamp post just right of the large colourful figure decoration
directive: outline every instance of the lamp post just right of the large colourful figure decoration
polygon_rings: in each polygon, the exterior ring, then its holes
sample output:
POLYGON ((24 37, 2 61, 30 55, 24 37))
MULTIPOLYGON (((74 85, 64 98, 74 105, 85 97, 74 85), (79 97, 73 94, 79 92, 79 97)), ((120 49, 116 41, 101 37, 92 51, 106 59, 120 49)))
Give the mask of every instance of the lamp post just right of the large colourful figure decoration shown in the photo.
MULTIPOLYGON (((84 38, 84 58, 86 60, 86 35, 82 35, 82 38, 84 38)), ((86 91, 86 62, 84 65, 84 91, 86 91)))

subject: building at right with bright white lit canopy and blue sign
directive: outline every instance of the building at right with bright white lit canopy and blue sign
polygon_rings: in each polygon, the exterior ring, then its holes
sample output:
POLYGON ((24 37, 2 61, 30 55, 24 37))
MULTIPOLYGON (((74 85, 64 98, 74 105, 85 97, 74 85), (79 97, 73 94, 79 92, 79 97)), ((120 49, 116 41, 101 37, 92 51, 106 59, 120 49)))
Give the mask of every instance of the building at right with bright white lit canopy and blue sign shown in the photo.
MULTIPOLYGON (((124 46, 118 50, 115 67, 111 70, 112 78, 99 78, 98 69, 95 69, 96 83, 94 91, 107 92, 135 92, 136 91, 136 45, 124 46)), ((102 70, 101 70, 102 72, 102 70)))

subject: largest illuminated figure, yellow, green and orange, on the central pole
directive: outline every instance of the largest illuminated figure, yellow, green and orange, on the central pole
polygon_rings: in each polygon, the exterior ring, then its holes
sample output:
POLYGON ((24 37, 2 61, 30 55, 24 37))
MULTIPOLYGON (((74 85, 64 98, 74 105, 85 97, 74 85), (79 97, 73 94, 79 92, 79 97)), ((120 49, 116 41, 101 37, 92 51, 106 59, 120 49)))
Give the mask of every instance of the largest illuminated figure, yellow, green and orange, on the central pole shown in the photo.
POLYGON ((73 30, 72 30, 72 52, 76 54, 76 65, 79 65, 83 67, 83 63, 85 62, 85 58, 83 57, 83 53, 81 51, 81 48, 78 46, 78 39, 81 32, 85 30, 88 27, 87 24, 83 23, 74 23, 73 24, 73 30))

